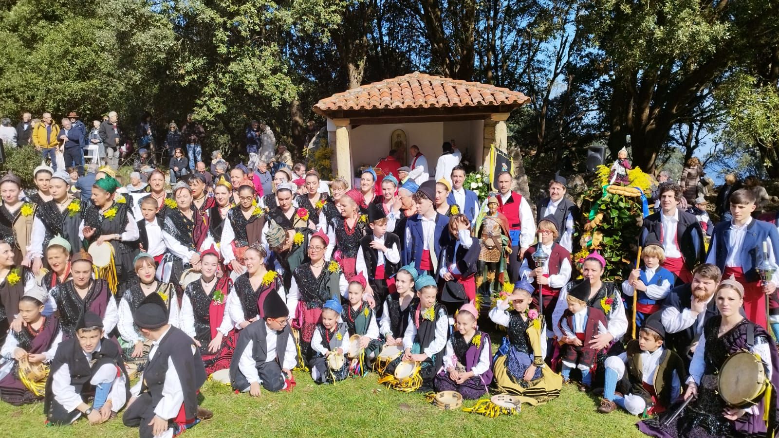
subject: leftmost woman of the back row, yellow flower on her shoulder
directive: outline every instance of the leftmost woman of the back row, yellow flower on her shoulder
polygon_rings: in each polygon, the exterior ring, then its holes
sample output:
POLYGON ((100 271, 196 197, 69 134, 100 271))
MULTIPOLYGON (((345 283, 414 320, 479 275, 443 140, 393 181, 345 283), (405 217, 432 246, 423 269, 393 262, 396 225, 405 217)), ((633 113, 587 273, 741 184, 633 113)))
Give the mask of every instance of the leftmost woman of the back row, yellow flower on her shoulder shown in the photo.
MULTIPOLYGON (((48 182, 47 182, 48 184, 48 182)), ((0 178, 0 239, 9 242, 13 249, 14 262, 29 267, 33 253, 27 251, 32 240, 36 203, 19 200, 22 180, 8 172, 0 178)), ((45 201, 41 201, 43 203, 45 201)))

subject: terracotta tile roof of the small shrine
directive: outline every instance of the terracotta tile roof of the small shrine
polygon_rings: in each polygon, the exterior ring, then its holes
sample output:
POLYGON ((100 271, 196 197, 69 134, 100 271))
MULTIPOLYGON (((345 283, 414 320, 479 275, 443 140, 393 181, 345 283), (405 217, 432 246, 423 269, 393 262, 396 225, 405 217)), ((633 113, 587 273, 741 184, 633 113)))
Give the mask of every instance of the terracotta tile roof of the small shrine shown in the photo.
POLYGON ((317 102, 314 111, 520 106, 528 101, 530 97, 508 88, 413 72, 333 94, 317 102))

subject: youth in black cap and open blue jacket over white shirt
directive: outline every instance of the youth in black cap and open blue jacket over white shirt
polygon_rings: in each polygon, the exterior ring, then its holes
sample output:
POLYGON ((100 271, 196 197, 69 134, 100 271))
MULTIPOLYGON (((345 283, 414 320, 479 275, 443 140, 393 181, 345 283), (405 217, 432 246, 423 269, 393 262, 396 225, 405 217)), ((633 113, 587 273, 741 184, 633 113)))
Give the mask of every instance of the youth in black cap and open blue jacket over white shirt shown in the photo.
MULTIPOLYGON (((406 224, 404 263, 414 264, 421 274, 438 274, 441 249, 449 243, 449 217, 439 214, 433 206, 435 182, 426 181, 414 193, 417 211, 406 224), (432 226, 431 226, 432 225, 432 226)), ((396 225, 397 226, 397 225, 396 225)))

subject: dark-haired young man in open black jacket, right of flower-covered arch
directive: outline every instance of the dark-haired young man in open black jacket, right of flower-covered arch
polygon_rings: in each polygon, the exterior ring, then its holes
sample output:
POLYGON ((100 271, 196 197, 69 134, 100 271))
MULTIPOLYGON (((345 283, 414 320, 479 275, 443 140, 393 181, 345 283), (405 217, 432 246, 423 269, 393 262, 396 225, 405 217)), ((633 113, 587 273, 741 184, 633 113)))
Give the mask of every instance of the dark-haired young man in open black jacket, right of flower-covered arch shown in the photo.
POLYGON ((703 262, 703 230, 693 214, 679 208, 682 189, 664 182, 658 189, 661 211, 643 218, 639 245, 660 242, 665 253, 663 267, 676 277, 676 284, 693 281, 693 269, 703 262))

